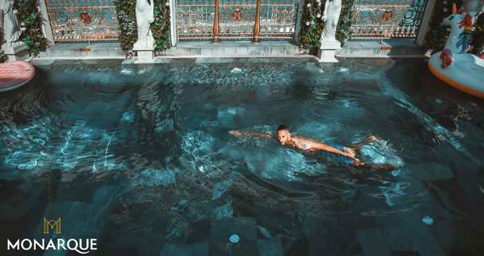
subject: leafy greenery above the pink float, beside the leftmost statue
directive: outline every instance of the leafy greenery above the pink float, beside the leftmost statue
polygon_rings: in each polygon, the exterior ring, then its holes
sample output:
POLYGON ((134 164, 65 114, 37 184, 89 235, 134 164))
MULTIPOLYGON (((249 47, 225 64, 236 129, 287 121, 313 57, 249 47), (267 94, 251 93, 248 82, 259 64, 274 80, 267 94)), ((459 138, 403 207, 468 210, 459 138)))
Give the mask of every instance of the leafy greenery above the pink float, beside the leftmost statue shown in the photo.
POLYGON ((14 12, 17 12, 17 18, 22 31, 20 35, 21 42, 28 47, 30 56, 39 55, 40 51, 45 51, 47 41, 41 30, 41 14, 37 7, 37 1, 41 0, 15 0, 14 12))

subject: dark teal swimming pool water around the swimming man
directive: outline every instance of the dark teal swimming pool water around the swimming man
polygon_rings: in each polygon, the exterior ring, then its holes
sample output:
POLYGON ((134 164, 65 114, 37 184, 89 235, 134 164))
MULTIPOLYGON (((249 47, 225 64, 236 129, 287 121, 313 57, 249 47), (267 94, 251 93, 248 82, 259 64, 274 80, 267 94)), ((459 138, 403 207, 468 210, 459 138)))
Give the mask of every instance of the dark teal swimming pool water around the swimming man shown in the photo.
POLYGON ((56 61, 36 71, 0 95, 3 241, 53 236, 44 217, 62 217, 58 236, 97 238, 100 255, 483 248, 484 102, 424 60, 56 61), (274 134, 281 123, 340 145, 373 134, 381 141, 360 157, 399 168, 337 166, 228 133, 274 134))

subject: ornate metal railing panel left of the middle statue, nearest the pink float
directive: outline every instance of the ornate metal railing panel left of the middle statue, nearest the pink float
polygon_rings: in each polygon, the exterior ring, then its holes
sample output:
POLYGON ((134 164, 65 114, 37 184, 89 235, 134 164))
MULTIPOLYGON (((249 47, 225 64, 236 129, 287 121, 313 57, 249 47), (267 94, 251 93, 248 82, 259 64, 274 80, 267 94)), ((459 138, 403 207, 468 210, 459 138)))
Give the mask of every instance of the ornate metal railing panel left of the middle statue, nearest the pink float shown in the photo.
POLYGON ((116 40, 115 0, 45 0, 56 42, 116 40))

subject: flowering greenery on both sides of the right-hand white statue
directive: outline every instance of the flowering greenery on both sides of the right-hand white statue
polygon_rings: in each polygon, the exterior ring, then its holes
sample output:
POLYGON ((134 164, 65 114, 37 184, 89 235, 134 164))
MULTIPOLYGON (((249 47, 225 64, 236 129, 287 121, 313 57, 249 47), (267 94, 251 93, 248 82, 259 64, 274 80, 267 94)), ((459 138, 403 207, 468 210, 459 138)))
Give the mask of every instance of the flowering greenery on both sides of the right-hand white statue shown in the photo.
MULTIPOLYGON (((301 29, 299 30, 299 46, 305 48, 319 47, 319 39, 324 29, 322 15, 324 3, 328 0, 308 0, 304 5, 301 15, 301 29)), ((351 21, 353 19, 351 8, 354 0, 342 0, 342 10, 339 15, 336 30, 336 39, 342 46, 351 37, 351 21)))

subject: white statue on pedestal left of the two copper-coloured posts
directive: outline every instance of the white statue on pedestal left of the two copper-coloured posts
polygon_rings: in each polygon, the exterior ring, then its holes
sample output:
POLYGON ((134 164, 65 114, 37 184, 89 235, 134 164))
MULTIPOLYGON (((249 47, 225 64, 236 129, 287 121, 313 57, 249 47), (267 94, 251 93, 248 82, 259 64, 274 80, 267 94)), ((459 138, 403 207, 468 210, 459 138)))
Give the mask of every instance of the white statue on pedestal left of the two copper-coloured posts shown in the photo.
POLYGON ((135 47, 153 48, 155 39, 151 34, 150 24, 155 21, 154 0, 136 0, 136 24, 138 25, 138 41, 135 47))

